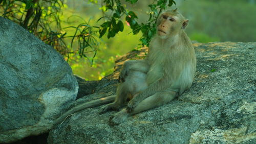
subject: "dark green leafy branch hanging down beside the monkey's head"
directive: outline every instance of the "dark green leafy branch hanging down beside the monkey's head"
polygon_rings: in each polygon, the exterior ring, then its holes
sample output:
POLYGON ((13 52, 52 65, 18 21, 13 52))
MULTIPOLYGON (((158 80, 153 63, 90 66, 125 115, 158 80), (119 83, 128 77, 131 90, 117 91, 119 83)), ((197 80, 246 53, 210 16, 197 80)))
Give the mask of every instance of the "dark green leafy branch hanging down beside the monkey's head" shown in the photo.
MULTIPOLYGON (((138 0, 125 0, 131 4, 135 4, 138 0)), ((104 0, 105 5, 101 7, 102 11, 112 11, 111 16, 103 16, 99 20, 105 18, 107 19, 99 29, 100 37, 102 37, 106 31, 108 31, 108 38, 114 37, 119 31, 123 31, 123 22, 120 20, 123 15, 125 15, 125 20, 127 25, 132 29, 133 34, 138 34, 140 31, 143 33, 140 41, 142 45, 147 45, 151 41, 151 38, 156 33, 156 19, 159 13, 166 9, 166 6, 170 7, 175 2, 173 0, 155 0, 150 7, 148 15, 150 16, 146 23, 138 23, 137 15, 133 11, 127 11, 124 9, 123 5, 119 0, 104 0), (168 5, 167 5, 168 3, 168 5), (158 11, 159 10, 159 11, 158 11), (118 22, 117 22, 118 21, 118 22)), ((99 21, 98 20, 98 21, 99 21)))

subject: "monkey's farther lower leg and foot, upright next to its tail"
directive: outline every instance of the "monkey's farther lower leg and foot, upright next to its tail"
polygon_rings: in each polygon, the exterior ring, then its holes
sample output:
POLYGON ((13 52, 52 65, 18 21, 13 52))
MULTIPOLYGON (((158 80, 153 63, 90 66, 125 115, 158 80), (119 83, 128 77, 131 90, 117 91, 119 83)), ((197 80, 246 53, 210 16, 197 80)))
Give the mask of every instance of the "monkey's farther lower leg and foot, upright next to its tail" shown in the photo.
POLYGON ((128 88, 126 82, 120 83, 117 87, 115 102, 105 105, 100 109, 99 114, 105 113, 109 110, 118 111, 119 108, 124 105, 128 97, 128 88))

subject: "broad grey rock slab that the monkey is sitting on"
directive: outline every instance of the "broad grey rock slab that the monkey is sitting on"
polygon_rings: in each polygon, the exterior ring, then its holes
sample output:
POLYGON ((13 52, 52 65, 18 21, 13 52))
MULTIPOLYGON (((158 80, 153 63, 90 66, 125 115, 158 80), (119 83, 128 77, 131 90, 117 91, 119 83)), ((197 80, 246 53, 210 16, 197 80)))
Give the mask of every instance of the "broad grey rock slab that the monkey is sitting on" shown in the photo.
MULTIPOLYGON (((114 111, 99 107, 68 117, 54 127, 49 143, 256 143, 256 42, 195 43, 197 75, 193 86, 167 105, 109 126, 114 111)), ((143 57, 146 49, 117 60, 94 94, 71 106, 115 94, 120 65, 143 57)))

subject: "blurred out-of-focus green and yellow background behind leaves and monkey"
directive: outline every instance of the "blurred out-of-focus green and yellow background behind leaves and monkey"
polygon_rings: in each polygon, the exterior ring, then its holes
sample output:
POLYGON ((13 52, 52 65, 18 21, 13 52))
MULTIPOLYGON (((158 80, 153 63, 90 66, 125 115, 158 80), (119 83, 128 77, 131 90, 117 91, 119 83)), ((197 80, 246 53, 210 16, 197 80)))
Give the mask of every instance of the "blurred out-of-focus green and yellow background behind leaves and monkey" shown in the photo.
MULTIPOLYGON (((99 27, 102 21, 97 23, 97 20, 104 16, 100 10, 102 1, 65 0, 60 19, 61 27, 66 28, 64 31, 67 35, 72 37, 76 30, 67 27, 76 27, 83 22, 99 27)), ((121 0, 125 8, 137 14, 138 22, 148 20, 146 13, 149 10, 148 5, 152 2, 153 0, 139 0, 132 5, 121 0)), ((189 25, 185 31, 191 40, 198 42, 256 41, 256 0, 175 0, 175 2, 173 9, 178 8, 178 11, 189 19, 189 25)), ((65 33, 64 31, 61 33, 65 33)), ((114 38, 108 39, 104 35, 99 39, 96 57, 94 54, 88 54, 89 59, 71 55, 69 59, 67 57, 65 59, 72 67, 74 74, 86 80, 100 80, 113 72, 117 57, 140 46, 141 32, 137 35, 131 32, 129 26, 124 23, 123 32, 119 32, 114 38), (92 59, 93 65, 90 62, 92 59)), ((75 42, 71 46, 71 40, 72 38, 65 39, 67 47, 79 47, 75 42)))

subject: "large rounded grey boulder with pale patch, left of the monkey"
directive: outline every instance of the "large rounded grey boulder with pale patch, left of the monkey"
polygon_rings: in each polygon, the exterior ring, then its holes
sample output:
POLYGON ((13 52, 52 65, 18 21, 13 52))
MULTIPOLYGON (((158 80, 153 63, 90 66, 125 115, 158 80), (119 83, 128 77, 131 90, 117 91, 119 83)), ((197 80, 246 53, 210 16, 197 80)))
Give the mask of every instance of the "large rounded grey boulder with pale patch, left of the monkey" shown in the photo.
POLYGON ((78 84, 50 46, 0 17, 0 143, 49 131, 78 84))

